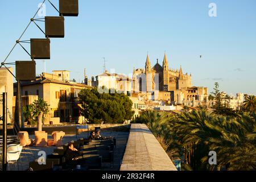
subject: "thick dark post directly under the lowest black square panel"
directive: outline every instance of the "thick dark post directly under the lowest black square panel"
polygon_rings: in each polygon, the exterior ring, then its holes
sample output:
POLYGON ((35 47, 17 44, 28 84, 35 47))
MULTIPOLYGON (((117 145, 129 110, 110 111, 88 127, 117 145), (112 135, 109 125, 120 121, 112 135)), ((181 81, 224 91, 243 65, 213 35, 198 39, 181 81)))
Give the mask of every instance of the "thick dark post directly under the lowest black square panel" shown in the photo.
POLYGON ((22 118, 22 101, 21 101, 21 93, 20 93, 20 81, 17 81, 17 95, 16 95, 16 106, 15 106, 15 122, 16 126, 18 126, 18 130, 20 128, 24 128, 22 118))

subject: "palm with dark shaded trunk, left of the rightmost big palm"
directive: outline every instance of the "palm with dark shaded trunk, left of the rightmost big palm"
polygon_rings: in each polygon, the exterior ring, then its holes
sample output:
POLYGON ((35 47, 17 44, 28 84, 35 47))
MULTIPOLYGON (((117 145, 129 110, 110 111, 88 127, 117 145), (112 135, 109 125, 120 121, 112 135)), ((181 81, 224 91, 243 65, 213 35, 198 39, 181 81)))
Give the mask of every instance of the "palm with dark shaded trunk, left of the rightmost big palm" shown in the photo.
POLYGON ((194 110, 181 114, 173 126, 175 135, 185 147, 185 158, 188 156, 188 163, 194 169, 205 170, 209 166, 201 159, 208 157, 210 139, 221 135, 221 128, 215 125, 215 119, 216 115, 209 111, 194 110))

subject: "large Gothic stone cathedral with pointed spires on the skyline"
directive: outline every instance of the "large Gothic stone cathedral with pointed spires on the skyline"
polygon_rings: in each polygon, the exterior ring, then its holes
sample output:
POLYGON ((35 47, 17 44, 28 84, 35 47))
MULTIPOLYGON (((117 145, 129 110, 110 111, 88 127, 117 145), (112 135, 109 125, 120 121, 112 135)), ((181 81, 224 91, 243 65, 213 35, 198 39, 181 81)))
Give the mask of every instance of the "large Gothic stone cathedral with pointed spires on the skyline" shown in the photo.
MULTIPOLYGON (((192 86, 191 77, 191 74, 183 73, 181 66, 180 69, 170 69, 166 53, 162 65, 157 60, 154 67, 151 67, 150 57, 147 55, 145 68, 133 71, 133 91, 147 93, 147 97, 157 91, 159 96, 170 96, 168 104, 196 106, 207 103, 208 89, 192 86)), ((163 97, 160 99, 166 100, 163 97)))

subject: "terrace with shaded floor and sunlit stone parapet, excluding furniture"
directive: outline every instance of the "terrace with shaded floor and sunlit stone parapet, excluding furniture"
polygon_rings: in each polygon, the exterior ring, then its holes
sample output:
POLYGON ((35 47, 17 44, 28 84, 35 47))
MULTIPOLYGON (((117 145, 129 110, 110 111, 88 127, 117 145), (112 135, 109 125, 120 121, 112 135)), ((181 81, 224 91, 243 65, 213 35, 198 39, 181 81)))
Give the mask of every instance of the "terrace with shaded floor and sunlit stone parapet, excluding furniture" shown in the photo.
MULTIPOLYGON (((90 126, 89 130, 94 130, 97 125, 90 126)), ((49 133, 48 133, 49 134, 49 133)), ((138 171, 138 170, 167 170, 175 171, 171 159, 160 146, 158 140, 154 137, 146 125, 101 125, 101 135, 105 137, 114 137, 116 147, 113 148, 113 164, 111 162, 102 162, 98 170, 101 171, 138 171), (158 166, 161 164, 161 166, 158 166)), ((30 134, 34 139, 35 135, 30 134)), ((48 138, 51 138, 48 135, 48 138)), ((80 138, 88 138, 88 130, 83 130, 76 134, 67 134, 63 138, 63 143, 77 141, 80 138)), ((82 148, 88 145, 83 145, 82 148)), ((7 169, 10 171, 26 171, 31 162, 40 158, 40 151, 51 155, 61 147, 23 147, 17 164, 8 164, 7 169)), ((79 148, 79 147, 77 147, 79 148)), ((82 148, 80 148, 82 150, 82 148)), ((99 150, 99 149, 97 149, 99 150)), ((61 167, 62 169, 62 167, 61 167)), ((88 170, 87 168, 85 170, 88 170)))

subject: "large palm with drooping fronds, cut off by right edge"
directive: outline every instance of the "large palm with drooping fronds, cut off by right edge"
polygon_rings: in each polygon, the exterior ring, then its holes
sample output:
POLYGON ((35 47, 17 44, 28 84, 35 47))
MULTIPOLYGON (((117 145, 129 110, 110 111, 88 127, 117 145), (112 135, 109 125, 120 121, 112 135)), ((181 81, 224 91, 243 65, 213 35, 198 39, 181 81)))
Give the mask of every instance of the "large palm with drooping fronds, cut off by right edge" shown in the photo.
POLYGON ((220 138, 210 140, 210 150, 216 151, 218 155, 217 168, 255 170, 255 118, 245 114, 240 118, 225 119, 221 126, 223 131, 220 138))

